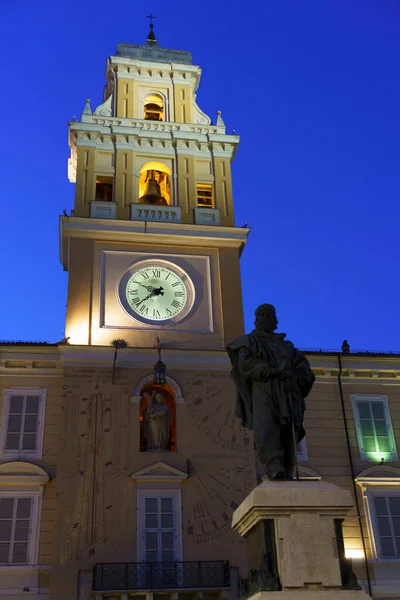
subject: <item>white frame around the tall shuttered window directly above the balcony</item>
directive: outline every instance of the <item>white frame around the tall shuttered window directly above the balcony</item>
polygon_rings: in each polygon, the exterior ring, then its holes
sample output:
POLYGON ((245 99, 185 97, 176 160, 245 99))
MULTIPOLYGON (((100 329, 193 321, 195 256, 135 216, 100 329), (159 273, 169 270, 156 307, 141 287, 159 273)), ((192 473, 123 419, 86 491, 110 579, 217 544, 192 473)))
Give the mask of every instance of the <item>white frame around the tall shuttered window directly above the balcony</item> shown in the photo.
POLYGON ((146 562, 146 498, 172 498, 175 524, 175 561, 182 561, 182 500, 180 489, 145 489, 137 492, 137 560, 146 562))

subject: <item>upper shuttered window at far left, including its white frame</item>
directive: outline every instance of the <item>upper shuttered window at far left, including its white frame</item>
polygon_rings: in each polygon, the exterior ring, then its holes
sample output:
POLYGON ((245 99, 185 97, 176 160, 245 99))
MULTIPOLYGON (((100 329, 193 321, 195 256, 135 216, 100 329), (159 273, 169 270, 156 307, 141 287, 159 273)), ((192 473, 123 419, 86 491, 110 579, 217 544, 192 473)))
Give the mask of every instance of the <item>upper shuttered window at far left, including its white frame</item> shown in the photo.
POLYGON ((1 458, 42 457, 46 390, 6 390, 1 429, 1 458))

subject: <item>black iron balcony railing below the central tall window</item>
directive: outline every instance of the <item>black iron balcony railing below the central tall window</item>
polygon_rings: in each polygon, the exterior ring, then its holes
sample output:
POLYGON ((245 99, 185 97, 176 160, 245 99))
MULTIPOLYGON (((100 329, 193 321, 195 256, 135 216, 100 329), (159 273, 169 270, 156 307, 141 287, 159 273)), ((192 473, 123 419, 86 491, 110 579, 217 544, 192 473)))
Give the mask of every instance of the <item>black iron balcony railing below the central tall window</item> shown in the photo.
POLYGON ((228 561, 97 563, 93 592, 223 590, 231 587, 228 561))

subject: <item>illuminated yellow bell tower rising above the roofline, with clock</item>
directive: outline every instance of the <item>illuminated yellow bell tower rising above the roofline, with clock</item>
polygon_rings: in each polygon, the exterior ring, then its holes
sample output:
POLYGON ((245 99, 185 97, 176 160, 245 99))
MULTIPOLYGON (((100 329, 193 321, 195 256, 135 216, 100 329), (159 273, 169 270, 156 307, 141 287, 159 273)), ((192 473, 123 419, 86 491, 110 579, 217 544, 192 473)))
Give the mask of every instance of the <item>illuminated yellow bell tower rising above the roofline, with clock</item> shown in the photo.
POLYGON ((190 52, 119 44, 103 103, 69 123, 74 209, 61 217, 65 335, 221 350, 243 329, 231 162, 239 138, 198 107, 190 52))

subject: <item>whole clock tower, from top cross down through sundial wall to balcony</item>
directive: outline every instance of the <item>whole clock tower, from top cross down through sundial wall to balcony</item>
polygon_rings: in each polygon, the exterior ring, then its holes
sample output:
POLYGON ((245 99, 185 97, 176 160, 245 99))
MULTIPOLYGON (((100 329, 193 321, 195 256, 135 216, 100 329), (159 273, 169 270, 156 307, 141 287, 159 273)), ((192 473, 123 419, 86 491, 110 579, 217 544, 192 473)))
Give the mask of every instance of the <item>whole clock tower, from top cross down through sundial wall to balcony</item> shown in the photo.
POLYGON ((51 598, 78 586, 79 598, 217 600, 246 572, 231 518, 255 485, 254 455, 225 347, 243 333, 249 230, 234 223, 239 139, 198 107, 200 74, 151 27, 144 45, 117 46, 103 103, 69 124, 51 598))

